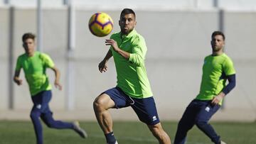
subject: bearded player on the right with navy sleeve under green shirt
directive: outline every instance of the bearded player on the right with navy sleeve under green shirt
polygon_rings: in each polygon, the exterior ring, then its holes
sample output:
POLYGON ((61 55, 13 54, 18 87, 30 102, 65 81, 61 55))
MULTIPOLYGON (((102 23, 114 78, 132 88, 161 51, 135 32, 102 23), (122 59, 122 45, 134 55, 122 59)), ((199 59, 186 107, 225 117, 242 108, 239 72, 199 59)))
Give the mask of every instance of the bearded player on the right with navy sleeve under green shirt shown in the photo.
POLYGON ((196 99, 186 108, 178 123, 174 144, 183 144, 188 131, 196 126, 215 144, 225 144, 208 121, 218 111, 222 100, 235 87, 233 62, 223 52, 225 35, 215 31, 211 35, 213 53, 204 59, 201 88, 196 99), (225 82, 228 79, 228 85, 225 82))

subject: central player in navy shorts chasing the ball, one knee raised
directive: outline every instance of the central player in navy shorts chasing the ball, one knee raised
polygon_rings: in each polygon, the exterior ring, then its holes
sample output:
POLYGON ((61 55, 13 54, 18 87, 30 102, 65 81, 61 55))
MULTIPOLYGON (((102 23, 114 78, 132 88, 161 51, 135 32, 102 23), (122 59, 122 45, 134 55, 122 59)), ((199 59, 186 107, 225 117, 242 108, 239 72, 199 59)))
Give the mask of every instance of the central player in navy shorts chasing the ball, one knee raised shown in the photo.
MULTIPOLYGON (((108 89, 97 96, 93 104, 97 118, 108 144, 117 144, 112 130, 112 117, 108 109, 131 106, 139 120, 146 123, 149 130, 161 144, 170 144, 169 135, 161 127, 153 94, 146 75, 146 43, 142 35, 134 30, 136 16, 132 9, 123 9, 120 14, 121 31, 106 40, 110 50, 99 64, 100 72, 107 71, 107 61, 114 57, 117 71, 117 87, 108 89)), ((136 131, 136 129, 134 129, 136 131)))

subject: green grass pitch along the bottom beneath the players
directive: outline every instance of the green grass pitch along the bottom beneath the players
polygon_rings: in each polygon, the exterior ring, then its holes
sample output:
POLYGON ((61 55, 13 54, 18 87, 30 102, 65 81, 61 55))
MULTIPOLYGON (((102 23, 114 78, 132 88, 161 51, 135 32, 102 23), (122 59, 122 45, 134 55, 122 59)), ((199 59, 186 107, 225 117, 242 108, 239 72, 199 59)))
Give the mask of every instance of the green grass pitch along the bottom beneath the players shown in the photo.
MULTIPOLYGON (((176 122, 162 122, 172 140, 176 132, 176 122)), ((55 130, 44 125, 45 144, 105 144, 105 137, 96 122, 80 122, 89 138, 82 139, 70 130, 55 130)), ((212 125, 228 144, 256 144, 255 123, 214 122, 212 125)), ((114 121, 114 135, 119 144, 157 143, 146 125, 140 122, 114 121)), ((33 144, 35 135, 30 121, 0 121, 0 144, 33 144)), ((198 128, 188 133, 187 144, 210 144, 210 140, 198 128)))

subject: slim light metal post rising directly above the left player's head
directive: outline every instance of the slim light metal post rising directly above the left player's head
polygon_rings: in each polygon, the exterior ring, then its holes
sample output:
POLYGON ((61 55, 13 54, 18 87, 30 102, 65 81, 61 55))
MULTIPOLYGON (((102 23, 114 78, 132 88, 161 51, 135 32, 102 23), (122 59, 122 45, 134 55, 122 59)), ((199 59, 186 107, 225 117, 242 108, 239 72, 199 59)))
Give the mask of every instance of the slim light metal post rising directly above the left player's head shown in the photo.
POLYGON ((42 6, 41 0, 37 1, 37 50, 43 51, 42 48, 42 6))

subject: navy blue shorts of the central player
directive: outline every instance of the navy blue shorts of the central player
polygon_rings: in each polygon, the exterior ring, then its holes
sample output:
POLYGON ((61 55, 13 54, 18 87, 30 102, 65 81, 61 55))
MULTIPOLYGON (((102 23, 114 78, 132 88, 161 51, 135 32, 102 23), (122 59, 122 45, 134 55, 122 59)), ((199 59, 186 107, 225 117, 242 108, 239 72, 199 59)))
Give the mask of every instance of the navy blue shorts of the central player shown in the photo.
POLYGON ((124 94, 119 87, 108 89, 103 92, 103 94, 110 96, 114 101, 116 109, 132 106, 132 109, 137 113, 139 120, 147 125, 152 126, 160 122, 153 96, 144 99, 136 99, 124 94))

